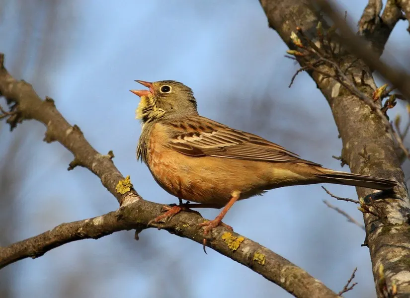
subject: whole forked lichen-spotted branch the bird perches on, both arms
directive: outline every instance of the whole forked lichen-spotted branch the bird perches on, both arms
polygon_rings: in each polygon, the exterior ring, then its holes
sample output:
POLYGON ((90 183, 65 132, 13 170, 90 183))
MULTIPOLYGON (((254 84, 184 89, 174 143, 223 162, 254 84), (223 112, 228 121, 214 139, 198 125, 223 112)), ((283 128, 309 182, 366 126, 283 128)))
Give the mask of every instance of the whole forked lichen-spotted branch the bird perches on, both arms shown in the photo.
MULTIPOLYGON (((97 239, 120 230, 136 229, 138 238, 138 233, 148 227, 149 221, 161 214, 162 205, 143 200, 132 185, 128 185, 126 191, 124 188, 117 189, 120 181, 126 179, 112 162, 112 152, 102 155, 93 149, 80 128, 71 126, 64 119, 51 98, 42 100, 30 84, 14 79, 4 68, 3 62, 4 56, 0 54, 0 95, 11 105, 11 114, 7 117, 11 129, 28 119, 43 123, 47 127, 44 141, 58 141, 74 154, 69 170, 78 165, 89 169, 114 195, 120 208, 96 218, 60 224, 40 235, 0 247, 0 268, 24 258, 39 257, 65 243, 86 238, 97 239)), ((203 232, 198 224, 204 221, 197 214, 182 212, 167 224, 157 227, 202 244, 203 232)), ((303 269, 225 227, 214 229, 213 239, 207 245, 261 274, 295 297, 338 297, 303 269)))

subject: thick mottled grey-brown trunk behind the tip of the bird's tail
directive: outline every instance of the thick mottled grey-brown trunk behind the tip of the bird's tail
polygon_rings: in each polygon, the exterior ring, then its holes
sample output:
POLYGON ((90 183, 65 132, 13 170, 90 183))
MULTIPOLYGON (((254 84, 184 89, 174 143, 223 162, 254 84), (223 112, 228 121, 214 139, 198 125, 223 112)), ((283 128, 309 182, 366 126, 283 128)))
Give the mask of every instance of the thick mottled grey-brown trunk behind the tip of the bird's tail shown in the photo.
MULTIPOLYGON (((325 1, 318 1, 325 3, 325 1)), ((329 28, 326 20, 320 15, 318 9, 309 0, 260 0, 266 13, 269 26, 274 29, 289 46, 296 49, 291 39, 291 32, 297 32, 296 27, 313 41, 317 42, 316 26, 321 21, 323 27, 329 28)), ((358 47, 358 46, 357 46, 358 47)), ((357 49, 364 53, 364 49, 357 49)), ((368 55, 367 49, 366 54, 368 55)), ((377 54, 373 54, 377 55, 377 54)), ((372 56, 372 57, 373 57, 372 56)), ((369 59, 369 55, 367 56, 369 59)), ((369 98, 376 89, 372 71, 365 61, 358 59, 351 53, 338 57, 340 65, 349 68, 356 87, 369 98), (352 64, 354 62, 354 64, 352 64)), ((368 60, 367 59, 367 60, 368 60)), ((368 62, 366 60, 366 62, 368 62)), ((312 65, 309 58, 298 58, 301 67, 312 65)), ((372 62, 376 67, 378 59, 372 62)), ((373 68, 374 65, 371 65, 373 68)), ((342 158, 352 172, 395 179, 399 186, 395 193, 387 195, 383 200, 376 200, 375 204, 384 211, 382 218, 364 214, 366 226, 366 243, 369 246, 373 266, 376 291, 378 297, 384 297, 384 286, 389 289, 397 285, 398 294, 395 297, 409 297, 410 295, 410 233, 408 219, 410 215, 410 201, 407 192, 404 174, 400 167, 399 158, 395 152, 392 136, 386 132, 383 119, 372 112, 370 107, 360 98, 352 95, 344 86, 331 77, 323 74, 332 74, 332 69, 325 65, 318 67, 320 70, 311 72, 310 75, 322 91, 333 113, 343 149, 342 158), (362 153, 366 154, 362 154, 362 153), (364 157, 363 157, 364 156, 364 157), (382 265, 382 266, 381 266, 382 265), (382 270, 383 274, 380 274, 382 270), (382 278, 383 277, 383 278, 382 278), (380 283, 383 280, 383 287, 380 283)), ((404 82, 400 73, 392 73, 390 78, 404 82), (399 80, 400 78, 400 80, 399 80)), ((386 76, 387 77, 387 76, 386 76)), ((387 77, 389 78, 389 77, 387 77)), ((404 93, 409 92, 409 86, 394 83, 401 87, 404 93)), ((410 94, 410 92, 408 93, 410 94)), ((378 103, 380 106, 380 102, 378 103)), ((374 196, 373 190, 357 188, 357 194, 362 198, 374 196)))

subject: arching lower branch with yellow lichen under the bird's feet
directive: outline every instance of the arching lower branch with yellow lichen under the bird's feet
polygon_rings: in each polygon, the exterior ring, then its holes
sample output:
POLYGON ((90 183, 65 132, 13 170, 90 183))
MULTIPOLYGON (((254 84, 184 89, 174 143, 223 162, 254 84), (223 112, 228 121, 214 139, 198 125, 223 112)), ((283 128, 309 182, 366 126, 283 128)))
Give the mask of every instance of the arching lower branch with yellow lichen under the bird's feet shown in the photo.
MULTIPOLYGON (((23 258, 39 257, 68 242, 98 239, 119 230, 141 231, 159 213, 159 204, 140 200, 96 218, 60 224, 40 235, 0 248, 0 268, 23 258)), ((203 235, 198 224, 203 221, 199 215, 180 213, 163 225, 163 228, 180 237, 202 243, 203 235)), ((296 297, 338 297, 306 271, 260 244, 224 227, 216 228, 213 234, 213 249, 261 274, 296 297)))

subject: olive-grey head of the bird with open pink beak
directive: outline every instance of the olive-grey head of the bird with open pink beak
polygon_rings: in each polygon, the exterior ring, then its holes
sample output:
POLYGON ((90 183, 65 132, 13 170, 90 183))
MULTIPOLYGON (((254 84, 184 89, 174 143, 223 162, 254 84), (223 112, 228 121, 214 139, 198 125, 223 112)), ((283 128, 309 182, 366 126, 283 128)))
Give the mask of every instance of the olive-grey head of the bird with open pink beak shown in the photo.
POLYGON ((136 110, 136 118, 143 123, 156 120, 170 114, 197 114, 196 100, 192 89, 173 80, 136 82, 148 87, 148 90, 130 90, 141 97, 136 110))

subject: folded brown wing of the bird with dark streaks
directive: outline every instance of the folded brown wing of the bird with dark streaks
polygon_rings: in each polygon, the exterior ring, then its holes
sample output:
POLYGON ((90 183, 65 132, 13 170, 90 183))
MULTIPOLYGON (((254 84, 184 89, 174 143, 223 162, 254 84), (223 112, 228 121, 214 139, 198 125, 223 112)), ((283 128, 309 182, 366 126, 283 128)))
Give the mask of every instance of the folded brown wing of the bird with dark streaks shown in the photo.
POLYGON ((205 117, 167 121, 173 132, 168 146, 190 156, 216 156, 268 162, 299 162, 318 165, 259 136, 232 129, 205 117))

